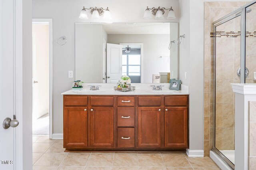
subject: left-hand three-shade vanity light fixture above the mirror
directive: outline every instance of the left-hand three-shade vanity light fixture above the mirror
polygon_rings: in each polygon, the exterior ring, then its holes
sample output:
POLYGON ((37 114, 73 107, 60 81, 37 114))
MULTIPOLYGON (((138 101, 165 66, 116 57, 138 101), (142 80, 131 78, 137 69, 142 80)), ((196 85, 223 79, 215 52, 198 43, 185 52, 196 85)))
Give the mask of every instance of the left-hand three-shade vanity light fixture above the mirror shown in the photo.
POLYGON ((104 14, 103 15, 104 20, 111 20, 111 14, 110 14, 110 11, 108 10, 108 7, 106 9, 104 9, 102 7, 100 7, 100 8, 97 8, 97 7, 84 8, 83 7, 82 11, 80 12, 79 18, 84 19, 84 20, 88 19, 86 10, 91 10, 92 19, 98 19, 98 18, 100 18, 100 16, 102 14, 104 14))

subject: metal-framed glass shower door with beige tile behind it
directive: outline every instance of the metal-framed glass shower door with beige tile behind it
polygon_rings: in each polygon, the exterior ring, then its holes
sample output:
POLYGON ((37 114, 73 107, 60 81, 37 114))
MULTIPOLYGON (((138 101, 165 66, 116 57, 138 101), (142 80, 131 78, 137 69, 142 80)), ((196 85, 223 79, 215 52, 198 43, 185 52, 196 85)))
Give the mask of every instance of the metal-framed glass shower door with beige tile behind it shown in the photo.
POLYGON ((233 167, 235 99, 231 83, 240 83, 240 21, 241 16, 237 15, 215 27, 213 148, 233 167))

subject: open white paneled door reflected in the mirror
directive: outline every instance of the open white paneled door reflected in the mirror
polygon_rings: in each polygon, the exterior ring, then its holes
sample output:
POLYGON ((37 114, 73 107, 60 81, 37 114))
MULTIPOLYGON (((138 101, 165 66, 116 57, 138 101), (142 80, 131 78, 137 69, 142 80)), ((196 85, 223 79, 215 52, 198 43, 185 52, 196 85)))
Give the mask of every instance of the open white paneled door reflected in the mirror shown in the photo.
POLYGON ((107 83, 117 83, 122 76, 122 45, 107 43, 107 83))

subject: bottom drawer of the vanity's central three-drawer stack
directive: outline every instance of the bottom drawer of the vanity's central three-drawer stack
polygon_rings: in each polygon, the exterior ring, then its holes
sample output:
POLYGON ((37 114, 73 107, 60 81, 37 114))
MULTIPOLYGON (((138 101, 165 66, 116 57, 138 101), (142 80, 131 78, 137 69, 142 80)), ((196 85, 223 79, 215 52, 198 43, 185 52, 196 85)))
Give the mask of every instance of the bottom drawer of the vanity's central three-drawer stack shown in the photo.
POLYGON ((117 128, 117 147, 134 148, 134 128, 117 128))

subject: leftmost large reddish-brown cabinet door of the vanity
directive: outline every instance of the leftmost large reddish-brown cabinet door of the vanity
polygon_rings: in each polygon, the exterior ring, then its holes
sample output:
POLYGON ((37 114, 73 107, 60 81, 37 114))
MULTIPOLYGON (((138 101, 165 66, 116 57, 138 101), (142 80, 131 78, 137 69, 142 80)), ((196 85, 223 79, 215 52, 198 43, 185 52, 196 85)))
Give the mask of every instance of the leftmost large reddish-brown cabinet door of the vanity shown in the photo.
POLYGON ((64 148, 87 147, 87 107, 64 107, 64 148))

